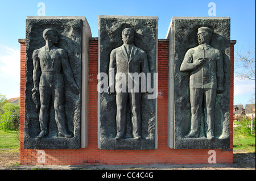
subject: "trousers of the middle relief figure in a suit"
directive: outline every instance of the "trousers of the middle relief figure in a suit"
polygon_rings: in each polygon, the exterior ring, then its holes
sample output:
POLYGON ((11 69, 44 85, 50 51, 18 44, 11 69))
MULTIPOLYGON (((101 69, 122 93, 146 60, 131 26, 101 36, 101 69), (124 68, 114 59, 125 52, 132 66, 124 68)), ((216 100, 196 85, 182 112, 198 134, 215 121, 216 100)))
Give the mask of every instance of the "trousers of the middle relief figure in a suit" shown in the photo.
POLYGON ((141 135, 141 92, 117 92, 117 134, 123 136, 127 121, 127 99, 129 96, 133 136, 141 135))

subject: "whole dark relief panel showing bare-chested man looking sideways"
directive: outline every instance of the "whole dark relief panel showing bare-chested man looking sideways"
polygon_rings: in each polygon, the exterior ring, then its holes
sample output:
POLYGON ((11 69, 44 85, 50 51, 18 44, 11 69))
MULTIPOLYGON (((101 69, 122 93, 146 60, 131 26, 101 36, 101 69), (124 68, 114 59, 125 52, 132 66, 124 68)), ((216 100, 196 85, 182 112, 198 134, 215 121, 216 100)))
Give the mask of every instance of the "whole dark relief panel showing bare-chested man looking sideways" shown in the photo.
POLYGON ((25 149, 81 148, 81 57, 81 19, 26 19, 25 149))

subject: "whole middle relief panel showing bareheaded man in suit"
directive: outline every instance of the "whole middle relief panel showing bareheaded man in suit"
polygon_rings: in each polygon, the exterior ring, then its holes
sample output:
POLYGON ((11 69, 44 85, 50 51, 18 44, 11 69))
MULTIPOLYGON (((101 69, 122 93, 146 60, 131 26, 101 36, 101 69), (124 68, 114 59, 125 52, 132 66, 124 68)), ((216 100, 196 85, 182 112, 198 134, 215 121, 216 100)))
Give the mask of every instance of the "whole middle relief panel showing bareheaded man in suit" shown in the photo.
POLYGON ((99 148, 155 149, 158 18, 99 16, 99 27, 99 148))

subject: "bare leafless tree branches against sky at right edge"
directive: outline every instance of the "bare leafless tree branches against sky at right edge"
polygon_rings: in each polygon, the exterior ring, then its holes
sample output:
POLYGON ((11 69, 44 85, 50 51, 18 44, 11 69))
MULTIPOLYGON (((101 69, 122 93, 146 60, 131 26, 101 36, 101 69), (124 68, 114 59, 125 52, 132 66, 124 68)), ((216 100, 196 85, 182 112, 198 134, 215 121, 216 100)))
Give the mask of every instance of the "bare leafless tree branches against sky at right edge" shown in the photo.
POLYGON ((236 52, 234 58, 235 76, 239 79, 250 79, 255 81, 255 43, 249 47, 248 50, 244 49, 245 54, 236 52))

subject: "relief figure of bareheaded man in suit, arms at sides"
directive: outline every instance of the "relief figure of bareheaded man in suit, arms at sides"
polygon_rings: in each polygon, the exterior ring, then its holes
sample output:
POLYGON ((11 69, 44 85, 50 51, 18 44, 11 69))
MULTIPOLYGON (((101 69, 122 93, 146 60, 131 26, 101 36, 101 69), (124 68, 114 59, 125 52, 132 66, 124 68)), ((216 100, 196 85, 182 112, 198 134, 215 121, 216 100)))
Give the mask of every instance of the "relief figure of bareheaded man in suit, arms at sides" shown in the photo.
MULTIPOLYGON (((116 140, 121 139, 125 133, 125 125, 127 121, 127 101, 130 102, 131 110, 131 122, 133 125, 133 137, 135 139, 141 139, 141 91, 127 91, 128 86, 121 87, 119 81, 122 81, 128 85, 129 76, 133 73, 144 73, 145 75, 149 73, 147 53, 135 47, 134 43, 134 31, 131 28, 125 28, 122 31, 123 45, 121 47, 115 48, 110 54, 109 63, 109 87, 108 92, 111 94, 115 87, 116 92, 116 104, 117 104, 117 135, 116 140), (116 74, 122 73, 126 75, 126 79, 123 80, 115 77, 116 74), (116 79, 115 79, 116 78, 116 79), (112 81, 114 80, 115 81, 112 81), (120 86, 120 87, 117 87, 120 86), (122 91, 117 91, 117 88, 122 88, 122 91)), ((144 81, 146 81, 144 79, 144 81)), ((141 82, 133 83, 137 86, 141 85, 141 82)))

